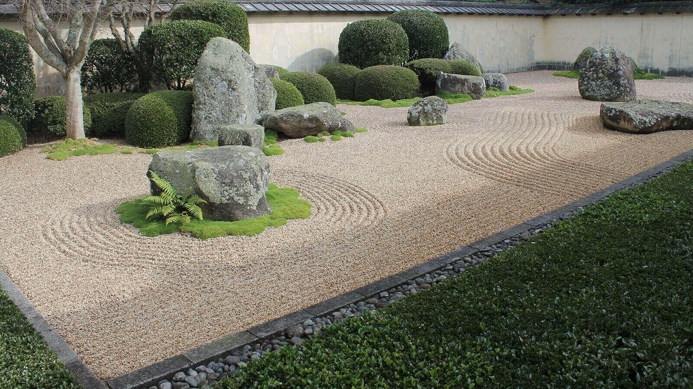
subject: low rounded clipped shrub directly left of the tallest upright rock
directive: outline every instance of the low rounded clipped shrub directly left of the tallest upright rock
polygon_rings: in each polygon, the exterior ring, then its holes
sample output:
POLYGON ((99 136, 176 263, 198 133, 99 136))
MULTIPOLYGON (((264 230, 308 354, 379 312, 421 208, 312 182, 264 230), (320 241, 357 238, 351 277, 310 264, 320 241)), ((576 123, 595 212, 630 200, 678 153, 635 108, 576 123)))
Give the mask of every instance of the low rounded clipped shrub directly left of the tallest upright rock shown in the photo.
POLYGON ((137 99, 125 117, 125 138, 138 147, 173 146, 190 136, 193 93, 159 91, 137 99))

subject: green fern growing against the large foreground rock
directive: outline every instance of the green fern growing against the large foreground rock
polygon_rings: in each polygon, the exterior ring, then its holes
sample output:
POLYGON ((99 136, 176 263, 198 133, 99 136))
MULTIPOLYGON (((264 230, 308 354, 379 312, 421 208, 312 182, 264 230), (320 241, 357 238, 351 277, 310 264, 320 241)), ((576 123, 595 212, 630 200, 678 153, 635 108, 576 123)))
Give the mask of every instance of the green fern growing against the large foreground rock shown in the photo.
POLYGON ((188 224, 191 217, 202 220, 202 208, 198 204, 207 203, 192 189, 183 196, 173 186, 159 177, 155 172, 148 172, 149 179, 161 190, 159 196, 146 196, 142 203, 149 207, 147 219, 164 219, 166 226, 170 223, 188 224))

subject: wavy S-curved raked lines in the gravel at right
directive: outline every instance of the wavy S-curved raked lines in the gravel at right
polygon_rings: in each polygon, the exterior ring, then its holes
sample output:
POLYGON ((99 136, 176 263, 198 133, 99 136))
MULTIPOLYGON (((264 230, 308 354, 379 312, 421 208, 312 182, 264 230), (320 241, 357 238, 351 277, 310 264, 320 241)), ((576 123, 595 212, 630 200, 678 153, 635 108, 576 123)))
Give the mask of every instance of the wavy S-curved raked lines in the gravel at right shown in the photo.
POLYGON ((482 177, 553 194, 583 194, 619 176, 566 159, 556 152, 573 116, 533 111, 504 111, 492 115, 490 131, 459 138, 448 145, 451 163, 482 177))

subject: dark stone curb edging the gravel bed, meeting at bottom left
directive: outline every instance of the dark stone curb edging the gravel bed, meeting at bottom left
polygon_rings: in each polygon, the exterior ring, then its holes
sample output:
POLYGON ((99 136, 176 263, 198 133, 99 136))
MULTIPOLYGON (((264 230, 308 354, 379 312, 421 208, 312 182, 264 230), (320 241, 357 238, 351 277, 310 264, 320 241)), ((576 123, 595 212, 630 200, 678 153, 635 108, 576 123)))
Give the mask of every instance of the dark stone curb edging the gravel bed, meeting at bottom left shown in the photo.
MULTIPOLYGON (((660 163, 652 168, 644 170, 634 176, 631 176, 623 181, 613 184, 606 189, 599 190, 586 197, 577 199, 568 205, 562 206, 544 215, 539 215, 533 219, 529 219, 524 223, 506 228, 500 233, 485 237, 477 242, 468 244, 467 246, 457 248, 450 253, 435 257, 432 260, 423 262, 410 269, 401 271, 400 273, 390 275, 389 277, 371 282, 363 287, 354 289, 353 291, 342 293, 328 300, 324 300, 305 309, 286 314, 280 318, 267 321, 260 325, 251 327, 243 332, 227 336, 218 341, 208 343, 196 347, 193 350, 188 350, 182 354, 172 356, 163 361, 153 363, 134 372, 123 374, 121 377, 116 377, 107 382, 108 388, 112 389, 130 389, 130 388, 148 388, 148 386, 156 386, 157 383, 164 379, 171 379, 174 374, 195 366, 204 365, 208 362, 216 361, 219 357, 230 355, 233 352, 240 350, 243 347, 250 347, 252 343, 271 338, 274 335, 282 334, 288 327, 297 325, 304 320, 312 320, 337 311, 340 308, 347 307, 355 302, 368 300, 373 296, 378 296, 380 293, 387 293, 389 289, 398 287, 407 282, 413 282, 416 278, 423 275, 428 275, 432 271, 446 268, 463 257, 473 255, 477 252, 487 250, 490 246, 500 244, 504 240, 511 237, 517 237, 523 233, 529 233, 530 230, 547 224, 548 222, 560 218, 563 215, 574 212, 590 203, 600 201, 614 192, 623 188, 636 185, 638 183, 648 181, 652 177, 656 177, 661 172, 671 170, 674 166, 687 160, 693 159, 693 150, 679 154, 669 161, 660 163)), ((64 341, 58 332, 51 327, 46 319, 39 311, 31 304, 10 278, 0 270, 0 286, 10 295, 12 302, 19 307, 20 311, 34 328, 40 332, 43 338, 51 347, 51 350, 60 358, 60 361, 65 367, 74 374, 77 381, 84 388, 106 389, 107 386, 101 381, 94 372, 85 365, 84 361, 71 349, 64 341)))

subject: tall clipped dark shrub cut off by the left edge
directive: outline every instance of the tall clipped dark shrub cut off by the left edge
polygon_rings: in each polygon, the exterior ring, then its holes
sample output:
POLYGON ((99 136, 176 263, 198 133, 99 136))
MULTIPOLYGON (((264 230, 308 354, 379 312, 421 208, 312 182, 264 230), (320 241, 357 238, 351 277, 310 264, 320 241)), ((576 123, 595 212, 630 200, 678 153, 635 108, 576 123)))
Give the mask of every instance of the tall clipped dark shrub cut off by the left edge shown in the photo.
POLYGON ((17 120, 34 116, 34 60, 24 35, 0 28, 0 112, 17 120))

